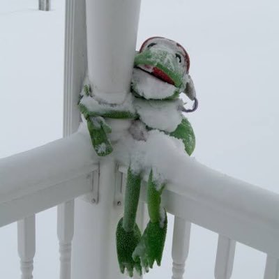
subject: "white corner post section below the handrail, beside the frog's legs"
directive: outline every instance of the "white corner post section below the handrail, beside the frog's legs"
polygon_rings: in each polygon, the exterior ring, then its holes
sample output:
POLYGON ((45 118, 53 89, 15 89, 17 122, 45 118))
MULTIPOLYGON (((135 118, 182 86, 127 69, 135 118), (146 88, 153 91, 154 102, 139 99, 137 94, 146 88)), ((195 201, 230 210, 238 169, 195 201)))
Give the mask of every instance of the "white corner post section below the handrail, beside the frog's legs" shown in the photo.
POLYGON ((114 202, 116 166, 111 158, 100 163, 98 204, 75 202, 73 279, 122 278, 116 256, 116 224, 123 206, 114 202))

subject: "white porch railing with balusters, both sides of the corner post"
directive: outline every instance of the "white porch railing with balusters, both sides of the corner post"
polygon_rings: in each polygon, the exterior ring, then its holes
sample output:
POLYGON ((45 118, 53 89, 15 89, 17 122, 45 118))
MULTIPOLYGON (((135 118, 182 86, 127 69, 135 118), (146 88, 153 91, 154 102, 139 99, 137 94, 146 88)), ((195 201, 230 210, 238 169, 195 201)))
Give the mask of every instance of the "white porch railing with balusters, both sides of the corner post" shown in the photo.
MULTIPOLYGON (((34 214, 63 202, 58 208, 57 223, 60 278, 70 278, 73 199, 92 192, 93 171, 98 176, 94 159, 89 138, 83 133, 75 133, 0 160, 0 225, 20 220, 18 250, 22 278, 31 278, 33 269, 34 214)), ((279 195, 220 174, 196 161, 189 162, 183 173, 174 174, 178 177, 176 184, 169 183, 163 193, 167 212, 175 216, 173 278, 183 276, 191 223, 219 234, 215 278, 230 278, 236 241, 266 252, 264 278, 277 278, 279 195)), ((121 174, 125 175, 126 171, 127 167, 119 167, 121 174)), ((125 179, 121 181, 125 183, 125 179)), ((142 188, 141 199, 144 201, 145 185, 142 188)))

